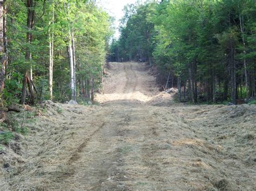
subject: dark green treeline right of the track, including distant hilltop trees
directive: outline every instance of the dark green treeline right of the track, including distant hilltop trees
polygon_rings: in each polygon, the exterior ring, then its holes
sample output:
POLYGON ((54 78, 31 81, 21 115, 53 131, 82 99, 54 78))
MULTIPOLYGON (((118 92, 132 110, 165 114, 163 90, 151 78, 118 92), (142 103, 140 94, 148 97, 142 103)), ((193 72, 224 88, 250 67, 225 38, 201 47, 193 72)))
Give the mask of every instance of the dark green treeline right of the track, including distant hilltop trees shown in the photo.
POLYGON ((129 5, 110 61, 147 60, 180 101, 255 97, 254 0, 155 1, 129 5))

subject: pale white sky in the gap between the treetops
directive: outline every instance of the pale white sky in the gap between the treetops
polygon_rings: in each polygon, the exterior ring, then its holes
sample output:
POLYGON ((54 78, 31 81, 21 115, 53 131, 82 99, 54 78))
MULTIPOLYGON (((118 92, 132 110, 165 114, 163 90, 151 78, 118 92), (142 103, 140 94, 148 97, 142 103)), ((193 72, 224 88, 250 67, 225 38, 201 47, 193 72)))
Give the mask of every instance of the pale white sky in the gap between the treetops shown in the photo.
MULTIPOLYGON (((141 0, 144 2, 145 0, 141 0)), ((124 12, 123 8, 127 4, 136 3, 137 0, 97 0, 99 6, 101 6, 110 16, 116 19, 114 26, 116 27, 116 33, 114 34, 115 38, 119 37, 118 26, 119 20, 123 17, 124 12)))

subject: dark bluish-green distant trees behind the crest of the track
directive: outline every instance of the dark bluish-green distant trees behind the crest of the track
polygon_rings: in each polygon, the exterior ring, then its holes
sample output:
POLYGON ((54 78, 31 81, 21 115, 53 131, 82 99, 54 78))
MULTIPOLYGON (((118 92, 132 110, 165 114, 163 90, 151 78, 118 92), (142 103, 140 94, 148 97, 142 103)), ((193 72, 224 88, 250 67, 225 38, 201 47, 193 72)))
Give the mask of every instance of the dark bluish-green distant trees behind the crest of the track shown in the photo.
POLYGON ((118 41, 113 40, 109 60, 146 59, 151 62, 154 48, 154 24, 151 18, 156 6, 156 3, 149 3, 125 7, 125 17, 120 26, 121 36, 118 41))

